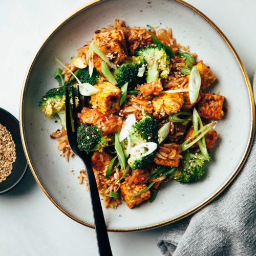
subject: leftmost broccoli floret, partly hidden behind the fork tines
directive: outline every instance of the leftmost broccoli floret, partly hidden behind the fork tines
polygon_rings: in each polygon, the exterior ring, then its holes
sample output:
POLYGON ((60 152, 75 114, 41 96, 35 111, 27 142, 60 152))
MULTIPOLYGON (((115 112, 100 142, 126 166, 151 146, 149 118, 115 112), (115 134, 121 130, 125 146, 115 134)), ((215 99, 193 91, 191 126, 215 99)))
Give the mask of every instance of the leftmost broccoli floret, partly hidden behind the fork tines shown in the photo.
MULTIPOLYGON (((77 89, 74 88, 75 95, 77 96, 77 89)), ((69 87, 70 96, 72 96, 72 87, 69 87)), ((50 89, 44 96, 42 96, 39 106, 42 112, 47 117, 52 118, 57 114, 60 118, 61 125, 66 129, 66 87, 59 87, 50 89)), ((78 98, 76 97, 76 105, 78 98)))

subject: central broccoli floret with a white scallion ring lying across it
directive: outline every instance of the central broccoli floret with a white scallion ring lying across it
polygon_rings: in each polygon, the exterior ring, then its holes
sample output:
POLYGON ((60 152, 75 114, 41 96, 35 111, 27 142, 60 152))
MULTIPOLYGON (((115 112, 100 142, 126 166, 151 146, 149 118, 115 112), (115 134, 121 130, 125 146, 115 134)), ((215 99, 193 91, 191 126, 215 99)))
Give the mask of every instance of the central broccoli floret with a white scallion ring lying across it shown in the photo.
MULTIPOLYGON (((157 120, 150 115, 145 115, 140 121, 137 121, 130 131, 131 146, 137 146, 145 142, 155 142, 158 139, 158 125, 157 120)), ((145 148, 141 148, 141 154, 146 153, 145 148)), ((132 169, 142 169, 148 164, 152 163, 156 151, 151 154, 141 157, 138 154, 131 154, 128 159, 128 164, 132 169)))

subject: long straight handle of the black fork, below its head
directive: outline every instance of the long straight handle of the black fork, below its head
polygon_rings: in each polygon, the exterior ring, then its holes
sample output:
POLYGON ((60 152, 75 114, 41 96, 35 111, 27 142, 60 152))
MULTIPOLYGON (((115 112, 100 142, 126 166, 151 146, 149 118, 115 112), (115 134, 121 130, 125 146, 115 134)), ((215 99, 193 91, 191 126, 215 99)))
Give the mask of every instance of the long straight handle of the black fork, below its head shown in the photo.
POLYGON ((112 251, 110 247, 110 241, 108 232, 106 231, 106 224, 104 220, 104 215, 100 203, 99 191, 97 183, 95 180, 94 172, 91 163, 88 164, 88 159, 82 159, 84 165, 86 166, 88 183, 90 187, 91 202, 93 208, 93 217, 95 223, 95 231, 98 243, 98 250, 100 256, 112 256, 112 251))

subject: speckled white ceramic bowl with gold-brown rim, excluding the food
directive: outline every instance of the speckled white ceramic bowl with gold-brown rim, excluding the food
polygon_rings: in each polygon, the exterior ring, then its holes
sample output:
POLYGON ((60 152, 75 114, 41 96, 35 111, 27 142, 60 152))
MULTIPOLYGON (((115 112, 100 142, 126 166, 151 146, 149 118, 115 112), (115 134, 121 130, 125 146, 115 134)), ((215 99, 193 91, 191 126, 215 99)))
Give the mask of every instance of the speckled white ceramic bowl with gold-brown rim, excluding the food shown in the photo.
POLYGON ((67 216, 93 227, 90 195, 76 179, 83 165, 77 157, 68 164, 59 157, 56 141, 49 138, 59 124, 41 113, 38 101, 48 89, 56 87, 55 57, 68 62, 95 30, 113 24, 115 18, 130 26, 161 23, 162 27, 172 27, 178 42, 189 45, 191 51, 198 53, 198 59, 211 67, 218 80, 210 91, 220 91, 228 109, 217 125, 220 138, 215 161, 209 164, 204 180, 186 185, 165 183, 154 203, 132 210, 125 203, 117 209, 104 209, 109 230, 141 230, 188 216, 224 190, 248 154, 254 131, 254 103, 236 52, 223 33, 195 8, 181 1, 112 0, 96 1, 78 10, 38 50, 26 75, 20 102, 22 139, 30 168, 49 199, 67 216), (70 172, 73 168, 75 175, 70 172))

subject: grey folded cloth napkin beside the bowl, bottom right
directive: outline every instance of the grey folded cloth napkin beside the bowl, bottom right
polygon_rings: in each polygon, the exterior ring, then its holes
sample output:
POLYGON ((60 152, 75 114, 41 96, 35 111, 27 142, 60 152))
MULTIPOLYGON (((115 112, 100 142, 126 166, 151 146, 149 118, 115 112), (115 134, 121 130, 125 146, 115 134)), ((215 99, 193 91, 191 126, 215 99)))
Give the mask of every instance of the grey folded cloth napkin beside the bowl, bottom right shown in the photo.
POLYGON ((164 255, 256 254, 256 141, 238 177, 192 217, 170 224, 157 240, 164 255))

